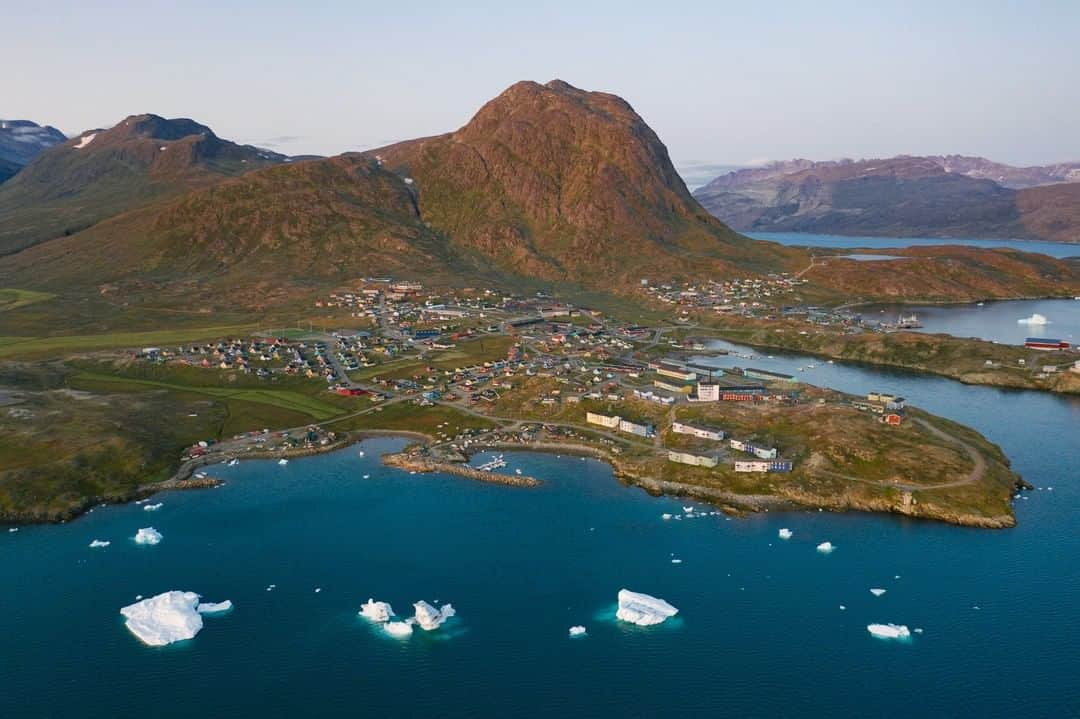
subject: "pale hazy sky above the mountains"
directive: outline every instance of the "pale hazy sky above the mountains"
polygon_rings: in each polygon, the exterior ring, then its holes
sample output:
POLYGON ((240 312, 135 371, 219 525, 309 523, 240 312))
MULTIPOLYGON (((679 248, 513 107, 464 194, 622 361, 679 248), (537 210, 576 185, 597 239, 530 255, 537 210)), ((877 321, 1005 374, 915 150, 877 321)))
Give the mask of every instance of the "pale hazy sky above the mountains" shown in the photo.
POLYGON ((562 78, 625 97, 681 165, 1080 159, 1080 0, 0 0, 0 117, 68 134, 156 112, 332 154, 562 78))

